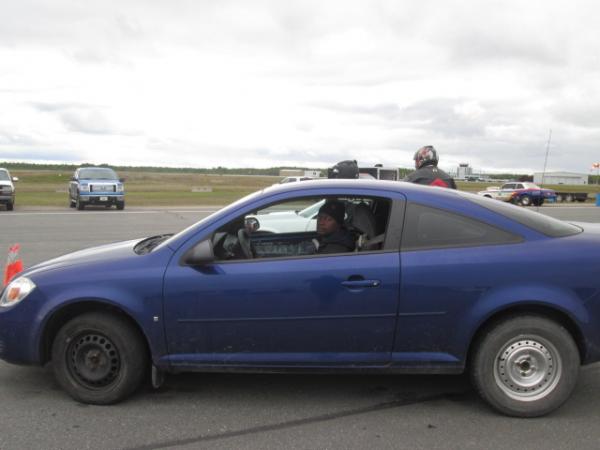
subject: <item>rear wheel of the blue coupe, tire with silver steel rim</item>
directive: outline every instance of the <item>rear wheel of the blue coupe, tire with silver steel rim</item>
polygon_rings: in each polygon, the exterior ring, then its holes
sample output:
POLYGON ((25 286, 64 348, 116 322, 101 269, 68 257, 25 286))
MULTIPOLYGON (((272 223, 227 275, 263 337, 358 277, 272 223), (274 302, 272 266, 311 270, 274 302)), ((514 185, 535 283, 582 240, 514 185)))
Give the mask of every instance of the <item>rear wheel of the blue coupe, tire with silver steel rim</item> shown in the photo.
POLYGON ((475 345, 470 375, 479 395, 496 410, 538 417, 561 406, 579 373, 571 334, 541 316, 513 316, 488 328, 475 345))

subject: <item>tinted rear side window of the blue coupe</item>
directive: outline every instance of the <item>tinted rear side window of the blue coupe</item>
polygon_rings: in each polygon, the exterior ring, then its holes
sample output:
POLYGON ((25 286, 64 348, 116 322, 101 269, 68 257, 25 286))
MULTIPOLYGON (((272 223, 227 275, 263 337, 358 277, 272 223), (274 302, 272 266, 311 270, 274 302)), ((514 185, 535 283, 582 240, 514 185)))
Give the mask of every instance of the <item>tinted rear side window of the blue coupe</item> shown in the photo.
POLYGON ((514 244, 522 238, 479 220, 443 209, 409 203, 402 250, 514 244))

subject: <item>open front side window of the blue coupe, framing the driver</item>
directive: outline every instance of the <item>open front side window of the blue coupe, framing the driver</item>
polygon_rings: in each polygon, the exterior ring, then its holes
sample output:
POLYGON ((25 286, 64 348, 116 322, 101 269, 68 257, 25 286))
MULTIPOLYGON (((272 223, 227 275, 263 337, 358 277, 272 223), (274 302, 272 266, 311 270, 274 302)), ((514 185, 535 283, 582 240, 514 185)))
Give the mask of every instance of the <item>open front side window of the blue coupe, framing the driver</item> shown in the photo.
MULTIPOLYGON (((362 196, 302 197, 236 218, 213 235, 217 260, 317 256, 382 250, 391 200, 362 196), (327 210, 330 229, 318 227, 327 210)), ((396 247, 397 249, 397 247, 396 247)))

